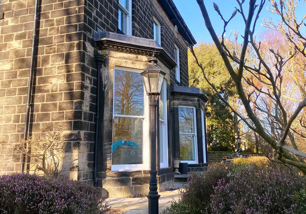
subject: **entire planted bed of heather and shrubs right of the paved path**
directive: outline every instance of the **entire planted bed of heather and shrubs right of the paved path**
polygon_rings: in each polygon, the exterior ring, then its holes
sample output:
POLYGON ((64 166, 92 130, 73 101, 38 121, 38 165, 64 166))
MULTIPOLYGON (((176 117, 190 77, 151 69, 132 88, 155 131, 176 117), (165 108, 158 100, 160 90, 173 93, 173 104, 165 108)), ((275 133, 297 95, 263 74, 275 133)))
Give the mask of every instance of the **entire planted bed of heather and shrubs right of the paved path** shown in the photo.
POLYGON ((190 174, 180 199, 163 213, 306 213, 304 182, 297 172, 265 157, 237 158, 190 174))

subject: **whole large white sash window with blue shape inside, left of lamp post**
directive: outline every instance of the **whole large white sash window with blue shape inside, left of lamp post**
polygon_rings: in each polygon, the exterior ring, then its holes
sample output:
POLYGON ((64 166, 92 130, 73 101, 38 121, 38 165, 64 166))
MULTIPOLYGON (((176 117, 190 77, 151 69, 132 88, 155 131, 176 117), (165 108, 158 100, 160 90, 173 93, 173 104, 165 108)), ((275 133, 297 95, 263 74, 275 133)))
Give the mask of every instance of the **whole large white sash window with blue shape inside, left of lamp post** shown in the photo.
POLYGON ((140 72, 114 69, 112 171, 148 169, 148 100, 140 72))

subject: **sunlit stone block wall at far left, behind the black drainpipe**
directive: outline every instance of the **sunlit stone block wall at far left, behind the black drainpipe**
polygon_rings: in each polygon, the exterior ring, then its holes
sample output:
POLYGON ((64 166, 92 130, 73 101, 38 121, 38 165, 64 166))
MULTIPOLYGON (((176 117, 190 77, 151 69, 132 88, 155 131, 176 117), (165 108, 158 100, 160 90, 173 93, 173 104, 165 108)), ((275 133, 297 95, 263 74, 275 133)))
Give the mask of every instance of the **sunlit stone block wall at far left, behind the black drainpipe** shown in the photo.
MULTIPOLYGON (((20 170, 21 155, 13 148, 23 137, 34 2, 2 0, 0 5, 1 174, 20 170)), ((89 57, 94 53, 84 37, 84 9, 84 0, 41 1, 29 133, 45 124, 65 124, 69 137, 61 174, 89 181, 95 131, 91 91, 96 83, 89 57)))

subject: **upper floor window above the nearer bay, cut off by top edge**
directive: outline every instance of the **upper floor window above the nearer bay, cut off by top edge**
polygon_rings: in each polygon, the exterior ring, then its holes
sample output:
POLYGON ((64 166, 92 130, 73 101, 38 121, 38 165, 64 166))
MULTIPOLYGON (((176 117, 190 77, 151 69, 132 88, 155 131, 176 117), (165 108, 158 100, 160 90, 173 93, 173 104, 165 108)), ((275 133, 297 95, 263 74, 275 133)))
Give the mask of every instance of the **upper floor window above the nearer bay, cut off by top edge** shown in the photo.
POLYGON ((132 0, 119 0, 118 28, 125 34, 132 33, 132 0))

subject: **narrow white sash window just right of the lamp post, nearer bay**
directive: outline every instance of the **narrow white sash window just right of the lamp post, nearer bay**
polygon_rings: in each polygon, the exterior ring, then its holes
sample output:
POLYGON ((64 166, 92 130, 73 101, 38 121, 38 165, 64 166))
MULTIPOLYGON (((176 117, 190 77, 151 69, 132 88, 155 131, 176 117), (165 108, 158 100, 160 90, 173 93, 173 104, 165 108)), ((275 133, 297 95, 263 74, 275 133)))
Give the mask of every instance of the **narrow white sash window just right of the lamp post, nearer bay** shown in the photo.
POLYGON ((159 96, 159 160, 160 168, 168 167, 167 85, 164 80, 159 96))

